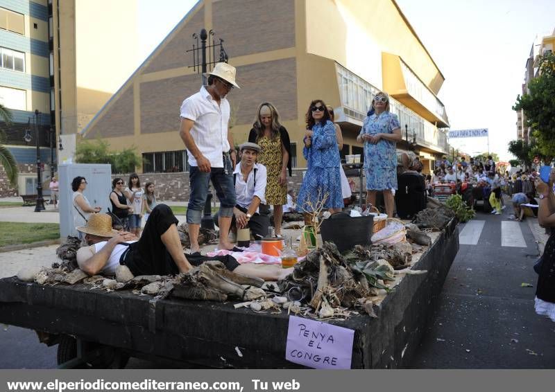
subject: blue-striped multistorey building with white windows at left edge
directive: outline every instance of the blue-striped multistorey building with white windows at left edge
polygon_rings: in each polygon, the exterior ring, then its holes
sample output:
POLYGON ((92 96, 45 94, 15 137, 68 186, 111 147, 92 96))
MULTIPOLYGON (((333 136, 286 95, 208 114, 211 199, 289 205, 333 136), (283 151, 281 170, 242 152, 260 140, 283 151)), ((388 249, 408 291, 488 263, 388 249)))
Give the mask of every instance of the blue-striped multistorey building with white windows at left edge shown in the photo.
POLYGON ((10 124, 0 123, 0 128, 19 168, 17 188, 11 188, 0 166, 2 196, 37 193, 37 143, 45 172, 56 164, 56 154, 53 159, 51 154, 57 140, 51 116, 51 12, 50 0, 0 0, 0 103, 13 116, 10 124))

